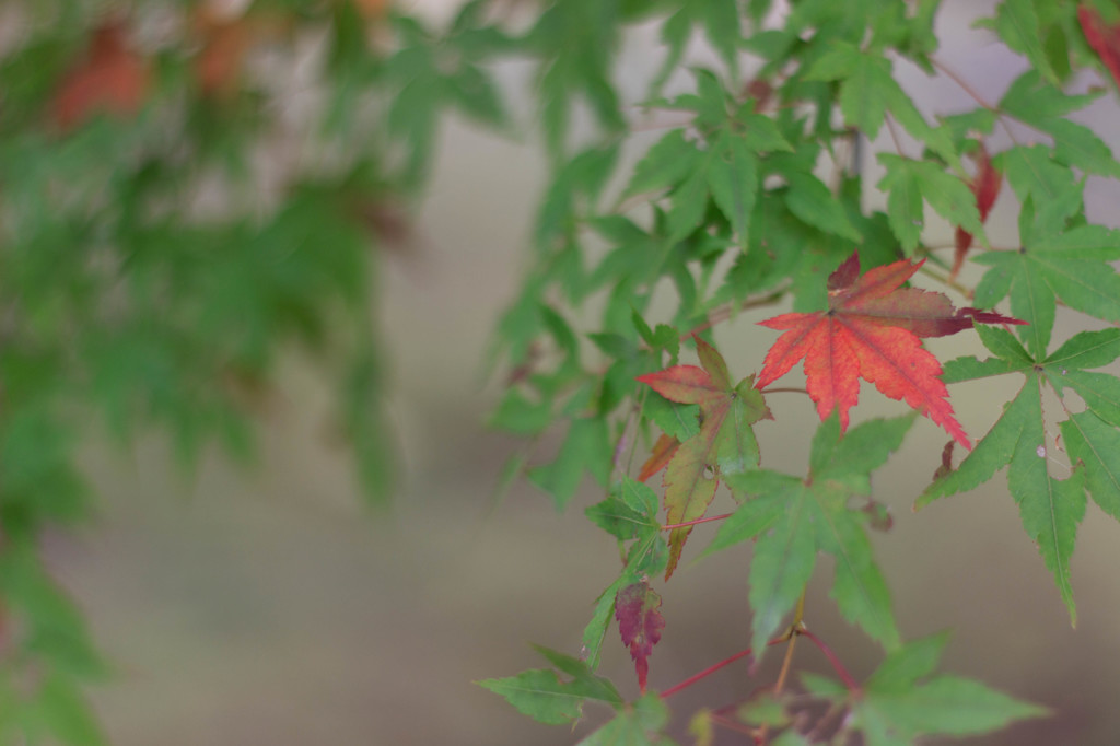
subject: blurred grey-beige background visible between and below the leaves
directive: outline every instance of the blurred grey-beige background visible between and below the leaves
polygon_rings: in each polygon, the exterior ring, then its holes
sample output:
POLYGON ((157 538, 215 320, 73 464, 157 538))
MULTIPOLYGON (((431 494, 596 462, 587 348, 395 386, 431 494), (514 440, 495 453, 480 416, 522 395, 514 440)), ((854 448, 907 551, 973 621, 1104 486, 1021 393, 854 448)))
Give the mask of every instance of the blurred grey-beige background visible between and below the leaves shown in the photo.
MULTIPOLYGON (((435 21, 454 10, 437 0, 399 4, 435 21)), ((991 3, 943 6, 939 57, 983 96, 998 100, 1025 60, 990 32, 970 28, 991 3)), ((365 12, 375 19, 381 8, 368 3, 365 12)), ((235 19, 240 11, 222 12, 235 19)), ((4 27, 9 38, 11 28, 4 27)), ((698 46, 690 54, 703 60, 708 53, 698 46)), ((642 80, 656 55, 656 29, 637 27, 625 40, 622 80, 642 80)), ((298 74, 298 59, 291 64, 298 74)), ((904 87, 930 109, 974 105, 949 81, 905 65, 898 71, 904 87)), ((516 62, 495 73, 513 96, 529 80, 529 67, 516 62)), ((1075 87, 1094 84, 1101 81, 1086 75, 1075 87)), ((293 85, 290 110, 264 111, 298 121, 298 96, 307 91, 298 75, 293 85)), ((1105 96, 1081 120, 1113 148, 1120 147, 1116 101, 1105 96)), ((523 101, 513 100, 511 108, 515 119, 532 116, 523 101)), ((339 442, 338 377, 324 367, 315 344, 281 339, 252 369, 267 369, 268 382, 251 386, 260 440, 245 459, 204 444, 195 465, 185 468, 181 438, 159 428, 132 433, 127 446, 106 436, 77 447, 81 470, 97 496, 93 520, 48 529, 43 553, 108 662, 90 693, 110 743, 559 746, 587 731, 585 725, 575 731, 536 725, 472 683, 538 666, 529 643, 577 653, 591 605, 617 563, 614 542, 582 516, 586 505, 601 498, 589 482, 562 515, 524 482, 495 497, 502 466, 519 441, 484 426, 498 393, 486 375, 485 351, 528 264, 526 236, 547 164, 535 138, 498 137, 463 115, 446 116, 435 131, 423 196, 412 214, 402 213, 403 233, 386 233, 382 221, 374 230, 375 261, 354 264, 370 273, 374 298, 370 328, 385 401, 376 427, 398 444, 398 488, 388 506, 371 509, 368 485, 355 476, 352 451, 339 442)), ((636 138, 628 157, 651 141, 636 138)), ((291 142, 280 137, 254 158, 268 164, 267 153, 291 142)), ((989 141, 991 150, 1000 146, 989 141)), ((287 166, 298 160, 289 156, 287 166)), ((271 172, 260 164, 254 168, 271 172)), ((869 171, 874 183, 871 177, 869 171)), ((1116 224, 1118 199, 1114 181, 1090 178, 1091 220, 1116 224)), ((874 195, 868 202, 875 204, 874 195)), ((1005 195, 989 221, 997 245, 1015 240, 1012 202, 1005 195)), ((931 233, 940 231, 940 243, 950 244, 952 230, 935 224, 931 233)), ((928 241, 937 243, 937 235, 928 241)), ((976 279, 962 277, 965 285, 976 279)), ((732 372, 758 369, 765 347, 755 346, 753 324, 773 313, 744 314, 719 328, 732 372)), ((981 354, 974 341, 955 337, 930 346, 942 357, 981 354)), ((954 386, 954 407, 973 437, 999 416, 1007 394, 1001 384, 954 386)), ((764 463, 803 468, 813 412, 792 397, 775 397, 772 409, 776 421, 758 426, 764 463)), ((865 388, 857 411, 871 417, 899 410, 865 388)), ((942 432, 921 421, 875 478, 877 498, 894 515, 894 528, 875 537, 876 551, 904 636, 952 628, 945 671, 1054 710, 1049 719, 974 743, 1116 744, 1120 529, 1090 506, 1074 557, 1079 625, 1071 628, 1002 477, 911 512, 943 441, 942 432)), ((697 529, 693 557, 713 533, 697 529)), ((663 594, 666 627, 651 659, 651 686, 657 689, 743 649, 749 637, 749 551, 699 563, 689 553, 663 594)), ((814 578, 806 622, 859 678, 879 653, 839 618, 827 598, 825 575, 814 578)), ((616 633, 609 635, 604 672, 633 696, 628 655, 616 633)), ((827 671, 809 645, 799 649, 795 666, 827 671)), ((766 680, 773 671, 764 666, 758 675, 766 680)), ((675 733, 688 743, 689 712, 754 687, 745 666, 731 666, 680 694, 675 733)), ((589 724, 597 715, 589 710, 589 724)))

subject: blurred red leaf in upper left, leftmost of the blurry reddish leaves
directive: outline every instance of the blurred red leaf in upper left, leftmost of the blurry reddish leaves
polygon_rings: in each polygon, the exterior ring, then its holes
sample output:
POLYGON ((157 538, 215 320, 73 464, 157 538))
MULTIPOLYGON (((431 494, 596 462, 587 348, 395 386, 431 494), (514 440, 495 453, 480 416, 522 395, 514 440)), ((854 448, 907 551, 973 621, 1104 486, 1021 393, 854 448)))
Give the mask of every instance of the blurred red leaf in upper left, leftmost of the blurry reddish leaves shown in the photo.
POLYGON ((94 31, 85 59, 59 84, 54 120, 69 130, 99 112, 136 114, 148 95, 150 77, 148 62, 128 48, 123 25, 106 24, 94 31))

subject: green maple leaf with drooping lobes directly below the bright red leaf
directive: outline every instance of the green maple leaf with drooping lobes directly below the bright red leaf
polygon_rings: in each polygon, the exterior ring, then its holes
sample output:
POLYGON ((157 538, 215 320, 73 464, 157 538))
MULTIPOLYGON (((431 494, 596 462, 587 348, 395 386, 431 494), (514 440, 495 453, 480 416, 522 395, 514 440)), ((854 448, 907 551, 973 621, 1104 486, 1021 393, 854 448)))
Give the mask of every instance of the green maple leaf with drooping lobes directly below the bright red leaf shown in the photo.
POLYGON ((765 650, 781 628, 821 551, 836 560, 832 597, 844 617, 887 649, 898 644, 890 594, 867 539, 867 515, 848 507, 848 500, 868 494, 870 473, 898 448, 913 421, 913 416, 871 420, 841 438, 833 416, 813 438, 809 476, 757 469, 728 478, 743 504, 708 551, 755 540, 748 597, 754 650, 765 650))

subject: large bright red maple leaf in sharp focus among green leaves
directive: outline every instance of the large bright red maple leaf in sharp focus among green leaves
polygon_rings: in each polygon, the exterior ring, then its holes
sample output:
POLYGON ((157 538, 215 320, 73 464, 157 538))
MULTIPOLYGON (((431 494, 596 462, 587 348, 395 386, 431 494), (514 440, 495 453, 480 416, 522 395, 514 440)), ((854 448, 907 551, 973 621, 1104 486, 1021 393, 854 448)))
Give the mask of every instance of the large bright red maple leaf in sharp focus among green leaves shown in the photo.
POLYGON ((980 324, 1025 324, 976 308, 956 309, 940 292, 902 288, 924 263, 902 260, 859 277, 853 253, 829 277, 829 308, 815 314, 783 314, 763 326, 785 330, 766 354, 755 384, 759 390, 804 358, 806 388, 820 418, 840 412, 841 431, 848 410, 859 400, 859 379, 940 425, 971 448, 953 416, 949 390, 937 377, 941 363, 918 337, 955 334, 980 324))

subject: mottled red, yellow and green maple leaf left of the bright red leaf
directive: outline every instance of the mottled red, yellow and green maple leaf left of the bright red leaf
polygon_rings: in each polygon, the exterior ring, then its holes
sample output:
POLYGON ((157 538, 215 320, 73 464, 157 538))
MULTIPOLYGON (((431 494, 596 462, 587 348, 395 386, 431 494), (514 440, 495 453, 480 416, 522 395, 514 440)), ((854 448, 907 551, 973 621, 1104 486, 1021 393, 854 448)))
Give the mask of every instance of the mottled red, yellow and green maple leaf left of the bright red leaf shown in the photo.
MULTIPOLYGON (((758 466, 758 442, 750 426, 769 418, 753 376, 732 385, 727 363, 699 337, 697 352, 703 367, 673 365, 637 377, 670 401, 700 407, 699 432, 681 442, 664 461, 665 521, 669 524, 702 517, 716 496, 719 475, 758 466)), ((654 458, 657 461, 647 461, 643 474, 660 463, 656 453, 654 458)), ((676 569, 691 531, 689 525, 670 532, 665 579, 676 569)))

